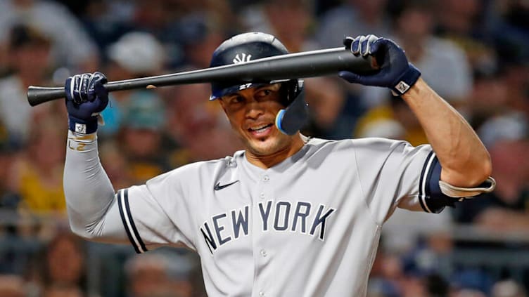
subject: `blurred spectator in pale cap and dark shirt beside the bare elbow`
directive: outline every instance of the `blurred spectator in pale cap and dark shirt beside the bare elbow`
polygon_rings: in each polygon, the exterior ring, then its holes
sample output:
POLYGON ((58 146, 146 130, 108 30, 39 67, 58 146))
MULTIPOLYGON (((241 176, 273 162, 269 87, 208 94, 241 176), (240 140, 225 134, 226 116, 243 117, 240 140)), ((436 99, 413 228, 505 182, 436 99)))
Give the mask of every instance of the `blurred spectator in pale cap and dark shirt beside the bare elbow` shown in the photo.
POLYGON ((478 130, 492 159, 497 188, 457 208, 461 223, 487 230, 522 232, 529 225, 529 123, 521 113, 487 119, 478 130))

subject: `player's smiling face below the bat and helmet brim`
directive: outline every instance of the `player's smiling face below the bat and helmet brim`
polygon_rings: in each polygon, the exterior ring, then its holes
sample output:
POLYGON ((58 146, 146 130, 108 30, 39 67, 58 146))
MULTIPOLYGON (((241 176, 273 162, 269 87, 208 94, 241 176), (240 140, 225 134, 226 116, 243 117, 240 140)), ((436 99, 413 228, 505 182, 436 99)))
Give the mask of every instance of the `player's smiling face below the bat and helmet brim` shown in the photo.
POLYGON ((293 138, 275 125, 276 114, 283 109, 280 84, 246 88, 221 98, 231 127, 255 156, 268 156, 289 150, 293 138))

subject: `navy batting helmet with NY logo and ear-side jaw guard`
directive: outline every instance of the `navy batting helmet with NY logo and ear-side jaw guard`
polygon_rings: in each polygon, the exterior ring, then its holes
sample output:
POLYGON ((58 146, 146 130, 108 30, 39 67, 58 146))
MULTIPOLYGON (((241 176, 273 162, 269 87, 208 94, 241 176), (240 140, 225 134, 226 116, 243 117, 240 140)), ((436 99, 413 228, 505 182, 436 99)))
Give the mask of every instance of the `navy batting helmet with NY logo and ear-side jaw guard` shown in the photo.
MULTIPOLYGON (((243 33, 227 39, 213 52, 210 67, 238 64, 286 53, 288 53, 286 47, 273 35, 260 32, 243 33)), ((210 100, 236 93, 245 88, 276 83, 281 83, 281 91, 285 94, 283 95, 283 105, 287 107, 286 110, 279 112, 276 126, 281 132, 293 135, 307 121, 307 104, 301 95, 303 81, 300 79, 212 83, 210 100), (292 111, 288 112, 289 109, 292 111)))

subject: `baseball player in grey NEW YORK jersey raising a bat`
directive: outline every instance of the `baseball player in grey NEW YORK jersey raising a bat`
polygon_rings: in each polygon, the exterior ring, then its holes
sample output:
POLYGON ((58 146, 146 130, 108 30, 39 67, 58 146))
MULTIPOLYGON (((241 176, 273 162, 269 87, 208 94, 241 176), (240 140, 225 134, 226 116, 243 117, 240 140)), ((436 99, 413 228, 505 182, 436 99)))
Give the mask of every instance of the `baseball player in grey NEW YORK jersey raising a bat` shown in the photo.
MULTIPOLYGON (((396 207, 438 213, 490 192, 495 182, 476 133, 399 46, 374 35, 348 37, 345 45, 374 56, 380 70, 340 77, 390 88, 431 145, 302 136, 307 110, 298 79, 212 84, 210 100, 222 106, 246 150, 115 192, 96 138, 106 77, 79 74, 65 83, 64 190, 72 230, 132 244, 138 253, 187 246, 200 255, 210 296, 365 296, 381 227, 396 207)), ((211 66, 282 53, 286 48, 269 34, 240 34, 217 48, 211 66)))

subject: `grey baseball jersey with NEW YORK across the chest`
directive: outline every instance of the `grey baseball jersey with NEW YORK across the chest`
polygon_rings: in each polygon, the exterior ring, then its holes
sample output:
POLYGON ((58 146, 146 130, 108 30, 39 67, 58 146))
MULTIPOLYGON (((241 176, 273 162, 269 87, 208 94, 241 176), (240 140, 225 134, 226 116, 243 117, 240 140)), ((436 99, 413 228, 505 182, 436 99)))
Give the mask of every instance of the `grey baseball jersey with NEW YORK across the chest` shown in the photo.
POLYGON ((429 145, 313 138, 270 169, 240 151, 116 197, 134 249, 196 250, 210 296, 364 296, 384 221, 441 211, 439 175, 429 145))

